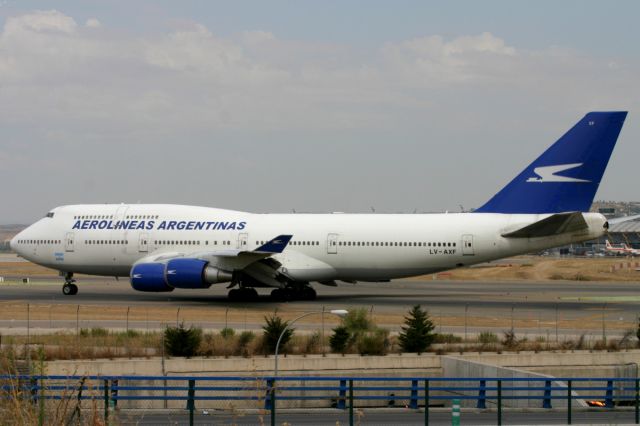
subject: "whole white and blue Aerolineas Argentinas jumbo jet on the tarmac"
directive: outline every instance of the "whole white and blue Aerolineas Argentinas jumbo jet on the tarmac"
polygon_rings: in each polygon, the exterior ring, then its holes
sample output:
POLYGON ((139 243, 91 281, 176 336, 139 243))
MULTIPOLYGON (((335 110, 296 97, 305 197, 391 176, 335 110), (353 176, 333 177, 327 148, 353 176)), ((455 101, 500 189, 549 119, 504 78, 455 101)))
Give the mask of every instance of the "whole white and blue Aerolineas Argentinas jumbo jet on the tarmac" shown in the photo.
MULTIPOLYGON (((254 214, 170 204, 56 207, 10 242, 55 269, 128 277, 143 292, 228 283, 230 300, 311 300, 310 283, 383 282, 593 240, 589 213, 627 112, 590 112, 473 212, 254 214)), ((499 164, 499 162, 497 162, 499 164)), ((496 165, 497 165, 496 164, 496 165)), ((495 166, 494 166, 495 167, 495 166)), ((624 219, 624 218, 623 218, 624 219)), ((621 221, 623 219, 617 220, 621 221)))

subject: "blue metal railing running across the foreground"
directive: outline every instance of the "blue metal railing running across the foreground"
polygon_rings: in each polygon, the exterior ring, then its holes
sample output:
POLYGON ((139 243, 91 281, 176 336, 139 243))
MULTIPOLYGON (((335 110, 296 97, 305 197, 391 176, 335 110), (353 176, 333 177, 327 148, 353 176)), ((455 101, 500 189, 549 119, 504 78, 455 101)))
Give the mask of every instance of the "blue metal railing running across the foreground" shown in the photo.
POLYGON ((22 398, 41 406, 47 400, 75 400, 72 417, 81 415, 82 401, 102 401, 106 424, 110 410, 125 401, 184 402, 190 424, 197 403, 241 401, 268 410, 272 425, 280 402, 324 401, 327 406, 347 411, 349 424, 353 425, 354 407, 368 401, 377 402, 378 406, 402 402, 409 409, 422 409, 426 425, 431 406, 454 399, 472 401, 478 409, 493 405, 498 425, 502 424, 505 402, 519 400, 535 402, 546 409, 562 402, 566 404, 567 424, 571 424, 572 406, 577 402, 592 401, 607 409, 633 406, 635 423, 640 424, 638 378, 3 375, 0 396, 22 398))

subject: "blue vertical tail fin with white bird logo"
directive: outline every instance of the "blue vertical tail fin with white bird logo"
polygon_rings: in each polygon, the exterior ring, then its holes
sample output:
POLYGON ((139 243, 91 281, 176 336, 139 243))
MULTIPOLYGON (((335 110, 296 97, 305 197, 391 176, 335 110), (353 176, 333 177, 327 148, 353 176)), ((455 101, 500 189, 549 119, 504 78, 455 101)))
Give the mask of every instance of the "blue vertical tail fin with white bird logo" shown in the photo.
POLYGON ((588 113, 476 212, 588 211, 626 116, 588 113))

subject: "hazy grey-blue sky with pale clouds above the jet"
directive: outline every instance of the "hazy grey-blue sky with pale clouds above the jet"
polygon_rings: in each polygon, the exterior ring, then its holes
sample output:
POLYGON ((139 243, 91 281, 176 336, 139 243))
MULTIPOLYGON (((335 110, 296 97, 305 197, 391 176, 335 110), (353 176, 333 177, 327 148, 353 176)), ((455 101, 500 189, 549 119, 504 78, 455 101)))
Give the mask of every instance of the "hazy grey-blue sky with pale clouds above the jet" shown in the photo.
POLYGON ((590 110, 638 200, 640 2, 0 0, 0 223, 477 207, 590 110), (55 3, 55 9, 52 9, 55 3))

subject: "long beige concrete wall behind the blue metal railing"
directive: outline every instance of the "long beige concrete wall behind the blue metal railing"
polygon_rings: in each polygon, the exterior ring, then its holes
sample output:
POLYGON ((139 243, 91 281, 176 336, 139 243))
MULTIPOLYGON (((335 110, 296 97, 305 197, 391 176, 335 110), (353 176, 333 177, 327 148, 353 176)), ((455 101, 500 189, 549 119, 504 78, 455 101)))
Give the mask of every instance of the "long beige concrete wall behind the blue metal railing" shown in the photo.
MULTIPOLYGON (((279 374, 281 376, 368 376, 368 377, 428 377, 437 383, 438 377, 531 377, 549 378, 555 381, 555 377, 637 377, 637 363, 640 361, 640 351, 630 350, 626 352, 589 352, 576 351, 566 353, 470 353, 463 355, 436 355, 436 354, 403 354, 376 356, 359 355, 289 355, 280 357, 279 374)), ((51 361, 47 363, 47 374, 51 375, 148 375, 148 376, 253 376, 255 382, 246 386, 244 392, 258 397, 252 407, 263 408, 263 395, 258 389, 264 386, 262 378, 273 375, 273 356, 255 358, 169 358, 159 357, 149 359, 116 359, 116 360, 70 360, 51 361)), ((300 385, 327 386, 327 382, 305 381, 292 383, 300 385)), ((139 383, 139 382, 138 382, 139 383)), ((530 382, 537 387, 544 386, 544 382, 530 382)), ((149 386, 164 383, 148 383, 149 386)), ((477 386, 478 381, 468 383, 477 386)), ((523 383, 522 383, 523 384, 523 383)), ((586 383, 581 385, 602 386, 601 382, 586 383)), ((182 383, 180 386, 184 386, 182 383)), ((229 382, 233 386, 232 382, 229 382)), ((237 382, 235 382, 237 385, 237 382)), ((338 383, 329 384, 337 386, 338 383)), ((355 386, 364 386, 357 379, 355 386)), ((407 382, 407 386, 411 383, 407 382)), ((495 384, 487 383, 487 386, 495 384)), ((566 386, 555 381, 554 386, 566 386)), ((419 384, 422 386, 422 384, 419 384)), ((508 386, 505 382, 505 386, 508 386)), ((146 391, 145 391, 146 392, 146 391)), ((527 391, 518 391, 512 395, 525 395, 527 391)), ((543 391, 537 392, 540 395, 543 391)), ((402 394, 404 395, 403 392, 402 394)), ((148 394, 148 392, 146 392, 148 394)), ((312 408, 330 407, 331 399, 337 398, 336 392, 317 392, 317 395, 326 396, 321 401, 281 401, 278 406, 282 408, 312 408)), ((363 393, 366 395, 366 393, 363 393)), ((477 394, 477 392, 476 392, 477 394)), ((422 395, 422 392, 420 392, 422 395)), ((505 393, 504 395, 509 395, 505 393)), ((574 393, 575 395, 575 393, 574 393)), ((489 396, 489 395, 487 395, 489 396)), ((517 401, 517 400, 516 400, 517 401)), ((360 406, 385 406, 388 401, 361 401, 360 406)), ((396 405, 405 404, 408 401, 396 401, 396 405)), ((476 400, 466 401, 465 406, 475 406, 476 400)), ((514 400, 504 400, 505 406, 513 407, 542 407, 542 400, 522 401, 526 405, 518 404, 514 400)), ((184 408, 180 401, 122 401, 123 408, 184 408)), ((554 399, 552 406, 566 407, 566 400, 554 399)), ((487 407, 493 402, 487 401, 487 407)), ((584 401, 575 401, 574 405, 583 406, 584 401)), ((235 409, 232 401, 207 401, 198 405, 199 408, 235 409)))

